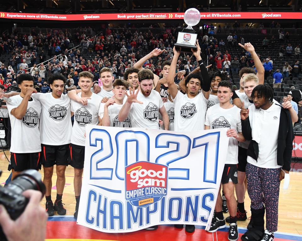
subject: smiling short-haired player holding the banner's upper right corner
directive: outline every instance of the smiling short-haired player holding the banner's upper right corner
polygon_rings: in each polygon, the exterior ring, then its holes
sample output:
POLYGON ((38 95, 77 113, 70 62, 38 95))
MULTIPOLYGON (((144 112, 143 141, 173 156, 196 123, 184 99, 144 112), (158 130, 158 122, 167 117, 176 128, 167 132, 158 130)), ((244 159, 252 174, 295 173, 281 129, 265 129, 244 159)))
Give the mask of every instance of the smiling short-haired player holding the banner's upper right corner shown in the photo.
MULTIPOLYGON (((217 97, 219 104, 213 105, 208 109, 205 117, 205 130, 216 128, 229 129, 226 134, 229 138, 226 162, 222 173, 221 183, 226 197, 227 207, 230 213, 230 228, 228 233, 229 240, 238 239, 237 229, 237 203, 234 195, 237 180, 238 163, 238 142, 244 141, 241 133, 240 109, 230 103, 232 97, 232 84, 222 81, 218 84, 217 97)), ((208 232, 216 232, 220 228, 225 228, 226 222, 222 213, 222 198, 217 197, 215 205, 215 217, 208 232)))

